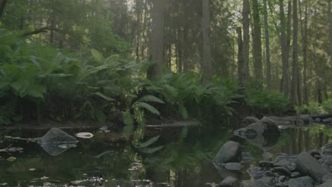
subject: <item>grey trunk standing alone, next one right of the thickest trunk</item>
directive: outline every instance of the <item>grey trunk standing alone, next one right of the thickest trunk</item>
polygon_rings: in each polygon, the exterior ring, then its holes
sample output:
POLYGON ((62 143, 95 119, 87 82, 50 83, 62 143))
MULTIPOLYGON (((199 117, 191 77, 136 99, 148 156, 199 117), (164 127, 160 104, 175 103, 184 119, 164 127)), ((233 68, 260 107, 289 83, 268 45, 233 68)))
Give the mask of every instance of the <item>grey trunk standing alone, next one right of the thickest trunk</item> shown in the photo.
POLYGON ((201 30, 203 34, 203 81, 209 81, 212 75, 212 57, 210 45, 210 0, 202 0, 203 18, 201 30))

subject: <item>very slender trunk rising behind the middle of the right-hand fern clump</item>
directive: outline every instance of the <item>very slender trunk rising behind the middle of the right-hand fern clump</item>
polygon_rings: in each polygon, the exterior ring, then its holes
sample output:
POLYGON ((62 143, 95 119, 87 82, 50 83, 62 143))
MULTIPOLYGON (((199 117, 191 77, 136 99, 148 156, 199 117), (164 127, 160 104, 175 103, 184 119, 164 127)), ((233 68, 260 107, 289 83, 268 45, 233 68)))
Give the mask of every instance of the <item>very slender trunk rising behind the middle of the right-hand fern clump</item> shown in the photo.
POLYGON ((266 53, 266 81, 267 88, 271 89, 271 60, 270 60, 270 35, 267 20, 267 0, 264 0, 264 30, 265 30, 265 53, 266 53))

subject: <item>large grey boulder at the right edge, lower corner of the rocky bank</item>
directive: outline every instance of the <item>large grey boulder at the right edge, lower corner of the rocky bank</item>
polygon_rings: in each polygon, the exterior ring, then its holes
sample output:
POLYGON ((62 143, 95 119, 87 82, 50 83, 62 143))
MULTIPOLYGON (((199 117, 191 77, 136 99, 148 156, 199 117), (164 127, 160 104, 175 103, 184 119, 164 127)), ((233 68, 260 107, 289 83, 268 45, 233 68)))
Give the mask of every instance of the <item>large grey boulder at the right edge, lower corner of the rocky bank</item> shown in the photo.
POLYGON ((311 176, 317 182, 320 182, 324 175, 331 174, 308 152, 301 152, 295 159, 295 164, 300 174, 311 176))

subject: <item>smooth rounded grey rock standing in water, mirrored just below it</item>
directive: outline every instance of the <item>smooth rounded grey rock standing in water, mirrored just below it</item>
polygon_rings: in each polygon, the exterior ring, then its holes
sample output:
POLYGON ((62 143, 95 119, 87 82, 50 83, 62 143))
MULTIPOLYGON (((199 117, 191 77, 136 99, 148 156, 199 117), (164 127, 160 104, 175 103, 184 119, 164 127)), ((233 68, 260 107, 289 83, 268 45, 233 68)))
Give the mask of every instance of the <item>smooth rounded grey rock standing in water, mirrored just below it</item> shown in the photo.
POLYGON ((240 162, 241 150, 238 142, 228 141, 219 150, 214 162, 227 163, 227 162, 240 162))

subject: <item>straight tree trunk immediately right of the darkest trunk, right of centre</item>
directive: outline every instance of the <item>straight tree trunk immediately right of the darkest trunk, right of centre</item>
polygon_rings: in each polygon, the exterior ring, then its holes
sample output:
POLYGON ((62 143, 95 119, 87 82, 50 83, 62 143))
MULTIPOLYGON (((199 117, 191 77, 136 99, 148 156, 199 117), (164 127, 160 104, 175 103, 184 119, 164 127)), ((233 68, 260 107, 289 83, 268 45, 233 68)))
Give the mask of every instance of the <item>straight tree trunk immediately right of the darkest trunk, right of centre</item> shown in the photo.
POLYGON ((262 80, 262 38, 260 30, 260 8, 258 0, 253 0, 253 60, 256 80, 262 80))

